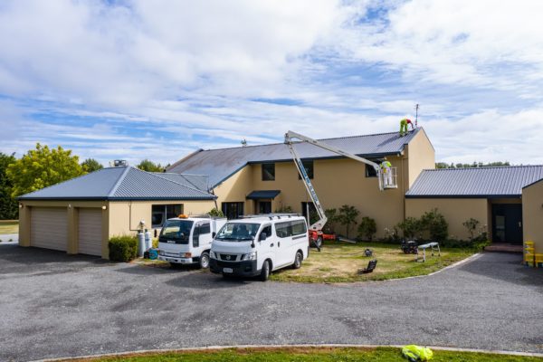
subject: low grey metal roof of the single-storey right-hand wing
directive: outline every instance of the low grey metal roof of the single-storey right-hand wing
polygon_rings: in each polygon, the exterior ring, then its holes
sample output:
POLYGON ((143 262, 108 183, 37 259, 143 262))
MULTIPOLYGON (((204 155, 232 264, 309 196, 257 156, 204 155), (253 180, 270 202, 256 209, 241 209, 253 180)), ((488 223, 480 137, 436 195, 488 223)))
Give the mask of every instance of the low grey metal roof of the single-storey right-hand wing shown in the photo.
POLYGON ((424 170, 405 197, 519 197, 543 178, 543 166, 424 170))

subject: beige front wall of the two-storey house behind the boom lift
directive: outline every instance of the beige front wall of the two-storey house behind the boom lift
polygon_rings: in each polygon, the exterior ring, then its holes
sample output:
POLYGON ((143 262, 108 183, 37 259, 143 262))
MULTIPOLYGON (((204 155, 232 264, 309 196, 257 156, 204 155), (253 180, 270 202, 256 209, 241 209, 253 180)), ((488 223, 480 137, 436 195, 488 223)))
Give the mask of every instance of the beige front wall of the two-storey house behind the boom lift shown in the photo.
MULTIPOLYGON (((388 160, 393 167, 398 167, 398 184, 402 184, 401 157, 388 157, 388 160)), ((376 177, 366 177, 366 166, 351 159, 315 160, 313 165, 311 182, 324 208, 357 207, 360 211, 358 219, 363 216, 376 219, 377 237, 384 236, 386 227, 403 220, 405 190, 402 187, 379 191, 376 177)), ((293 162, 275 163, 274 181, 262 181, 262 165, 248 165, 215 188, 214 194, 218 196, 219 205, 222 202, 245 202, 245 214, 252 214, 254 202, 245 200, 245 197, 253 190, 281 190, 272 202, 272 211, 281 206, 291 206, 295 212, 301 213, 301 203, 311 201, 293 162)), ((341 227, 338 229, 345 233, 341 227)), ((355 233, 351 232, 351 236, 355 233)))

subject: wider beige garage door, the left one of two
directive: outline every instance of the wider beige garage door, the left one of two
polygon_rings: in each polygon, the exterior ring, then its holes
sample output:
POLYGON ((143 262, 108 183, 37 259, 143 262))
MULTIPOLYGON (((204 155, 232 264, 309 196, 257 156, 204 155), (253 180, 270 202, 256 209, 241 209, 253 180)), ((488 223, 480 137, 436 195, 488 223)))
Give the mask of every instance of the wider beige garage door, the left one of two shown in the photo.
POLYGON ((66 251, 68 213, 64 207, 33 207, 30 215, 30 244, 66 251))

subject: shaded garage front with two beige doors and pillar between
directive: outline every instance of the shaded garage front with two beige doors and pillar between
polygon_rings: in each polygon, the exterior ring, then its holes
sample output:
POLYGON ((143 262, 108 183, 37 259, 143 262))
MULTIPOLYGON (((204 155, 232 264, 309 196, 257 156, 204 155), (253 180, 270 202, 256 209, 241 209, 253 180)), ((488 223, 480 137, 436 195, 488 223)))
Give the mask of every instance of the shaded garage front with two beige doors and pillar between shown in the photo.
POLYGON ((26 223, 22 223, 26 230, 21 233, 28 236, 24 238, 28 246, 103 256, 107 214, 102 207, 29 204, 25 203, 21 210, 26 219, 26 223))

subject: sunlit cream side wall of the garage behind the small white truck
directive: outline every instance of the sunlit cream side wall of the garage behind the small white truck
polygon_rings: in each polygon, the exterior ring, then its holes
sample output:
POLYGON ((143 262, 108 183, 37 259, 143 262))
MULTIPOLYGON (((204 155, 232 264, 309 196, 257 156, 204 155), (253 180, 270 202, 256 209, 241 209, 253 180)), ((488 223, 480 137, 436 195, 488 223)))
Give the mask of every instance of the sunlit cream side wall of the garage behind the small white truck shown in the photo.
POLYGON ((185 214, 205 214, 214 208, 213 200, 195 201, 111 201, 109 204, 110 230, 108 238, 138 231, 138 224, 145 221, 151 229, 153 205, 183 205, 185 214))

